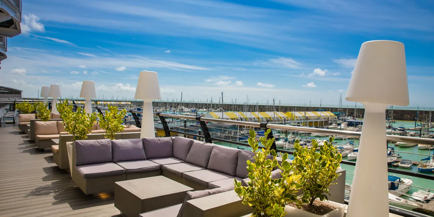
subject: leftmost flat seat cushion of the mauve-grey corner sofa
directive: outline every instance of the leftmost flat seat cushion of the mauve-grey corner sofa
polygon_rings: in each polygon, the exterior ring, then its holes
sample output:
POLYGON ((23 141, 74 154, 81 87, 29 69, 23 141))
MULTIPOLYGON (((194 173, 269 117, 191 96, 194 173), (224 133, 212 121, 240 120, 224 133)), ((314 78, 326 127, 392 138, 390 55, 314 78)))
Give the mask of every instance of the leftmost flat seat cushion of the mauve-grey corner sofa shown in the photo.
POLYGON ((115 163, 87 164, 76 167, 83 178, 99 178, 124 174, 124 169, 115 163))

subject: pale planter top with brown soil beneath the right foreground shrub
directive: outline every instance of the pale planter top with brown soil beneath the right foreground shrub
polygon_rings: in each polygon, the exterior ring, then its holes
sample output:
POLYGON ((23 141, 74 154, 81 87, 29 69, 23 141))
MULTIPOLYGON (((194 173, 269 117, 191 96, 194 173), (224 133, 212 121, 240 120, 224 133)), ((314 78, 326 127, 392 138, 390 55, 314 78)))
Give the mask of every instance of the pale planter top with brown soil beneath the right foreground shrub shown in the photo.
POLYGON ((343 217, 345 204, 316 199, 313 205, 302 204, 301 208, 289 204, 285 207, 285 212, 287 213, 285 217, 343 217))

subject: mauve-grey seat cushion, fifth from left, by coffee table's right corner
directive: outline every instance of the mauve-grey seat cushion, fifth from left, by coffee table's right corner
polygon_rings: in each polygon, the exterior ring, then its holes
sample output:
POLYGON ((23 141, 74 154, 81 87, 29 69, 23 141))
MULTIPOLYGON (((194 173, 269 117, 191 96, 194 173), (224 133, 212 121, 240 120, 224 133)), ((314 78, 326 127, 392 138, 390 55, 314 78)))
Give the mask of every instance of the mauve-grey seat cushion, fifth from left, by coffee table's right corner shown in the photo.
POLYGON ((201 184, 205 187, 208 187, 208 183, 213 181, 220 181, 228 178, 233 178, 233 176, 231 175, 220 173, 213 170, 208 170, 208 169, 185 172, 182 174, 182 177, 194 183, 201 184))

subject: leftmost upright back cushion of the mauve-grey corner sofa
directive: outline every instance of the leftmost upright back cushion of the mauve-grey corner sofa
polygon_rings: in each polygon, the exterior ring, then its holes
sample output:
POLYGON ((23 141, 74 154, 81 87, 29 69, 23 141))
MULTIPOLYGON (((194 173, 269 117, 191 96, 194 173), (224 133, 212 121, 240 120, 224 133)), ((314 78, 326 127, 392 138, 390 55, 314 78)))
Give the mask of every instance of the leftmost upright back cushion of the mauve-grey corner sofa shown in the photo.
POLYGON ((112 161, 112 143, 109 138, 78 140, 74 145, 76 146, 76 166, 112 161))

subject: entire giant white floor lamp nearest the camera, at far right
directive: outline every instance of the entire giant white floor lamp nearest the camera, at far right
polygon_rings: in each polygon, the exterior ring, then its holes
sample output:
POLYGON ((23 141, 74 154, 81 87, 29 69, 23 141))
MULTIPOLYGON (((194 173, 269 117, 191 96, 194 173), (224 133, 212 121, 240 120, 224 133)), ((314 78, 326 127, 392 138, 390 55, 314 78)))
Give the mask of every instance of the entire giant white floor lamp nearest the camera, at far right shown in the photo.
POLYGON ((386 40, 363 43, 345 99, 365 107, 347 216, 387 217, 385 111, 388 105, 409 104, 404 44, 386 40))

